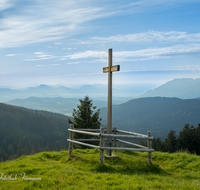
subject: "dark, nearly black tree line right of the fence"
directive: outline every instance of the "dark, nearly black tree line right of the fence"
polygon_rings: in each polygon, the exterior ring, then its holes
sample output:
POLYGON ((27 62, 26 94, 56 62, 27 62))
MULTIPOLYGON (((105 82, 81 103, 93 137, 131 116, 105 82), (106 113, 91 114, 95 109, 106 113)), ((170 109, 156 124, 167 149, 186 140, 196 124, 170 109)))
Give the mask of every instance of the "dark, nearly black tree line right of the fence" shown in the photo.
POLYGON ((169 153, 186 151, 200 155, 200 123, 196 128, 193 125, 185 124, 179 136, 176 135, 176 131, 171 130, 164 141, 154 138, 152 147, 156 151, 169 153))

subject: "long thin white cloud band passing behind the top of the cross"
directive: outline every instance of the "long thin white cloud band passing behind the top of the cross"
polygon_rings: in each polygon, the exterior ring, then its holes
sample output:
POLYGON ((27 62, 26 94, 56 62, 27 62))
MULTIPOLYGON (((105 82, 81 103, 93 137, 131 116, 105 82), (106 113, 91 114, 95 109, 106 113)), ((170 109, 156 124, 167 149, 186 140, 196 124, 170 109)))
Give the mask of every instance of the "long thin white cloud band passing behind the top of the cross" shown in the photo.
MULTIPOLYGON (((69 55, 50 55, 45 52, 34 52, 36 57, 29 57, 25 61, 39 61, 54 59, 56 61, 65 60, 79 60, 87 59, 81 61, 72 61, 67 64, 79 64, 79 63, 104 63, 107 62, 108 53, 106 51, 85 51, 78 52, 69 55)), ((146 48, 135 51, 114 51, 113 60, 114 62, 133 62, 133 61, 145 61, 152 59, 166 59, 172 57, 184 57, 184 56, 200 56, 200 44, 187 44, 187 45, 174 45, 169 47, 161 48, 146 48)))

